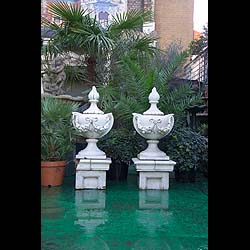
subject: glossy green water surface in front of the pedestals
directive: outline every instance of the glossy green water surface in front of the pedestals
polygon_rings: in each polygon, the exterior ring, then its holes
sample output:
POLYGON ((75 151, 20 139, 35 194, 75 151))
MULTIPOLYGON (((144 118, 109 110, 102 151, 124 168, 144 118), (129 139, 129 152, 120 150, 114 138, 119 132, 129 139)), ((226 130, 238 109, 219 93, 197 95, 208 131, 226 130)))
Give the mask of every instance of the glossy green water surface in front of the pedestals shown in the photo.
POLYGON ((138 190, 133 171, 106 190, 75 190, 74 177, 42 188, 43 250, 207 250, 207 180, 138 190))

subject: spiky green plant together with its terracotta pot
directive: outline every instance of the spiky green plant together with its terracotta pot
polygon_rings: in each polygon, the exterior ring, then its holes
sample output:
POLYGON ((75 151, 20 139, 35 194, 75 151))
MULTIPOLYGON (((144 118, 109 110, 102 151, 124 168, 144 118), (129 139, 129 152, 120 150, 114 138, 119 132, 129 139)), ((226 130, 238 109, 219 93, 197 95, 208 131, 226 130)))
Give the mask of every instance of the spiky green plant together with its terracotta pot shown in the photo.
POLYGON ((73 148, 71 113, 78 104, 55 97, 41 98, 41 185, 63 183, 66 157, 73 148))

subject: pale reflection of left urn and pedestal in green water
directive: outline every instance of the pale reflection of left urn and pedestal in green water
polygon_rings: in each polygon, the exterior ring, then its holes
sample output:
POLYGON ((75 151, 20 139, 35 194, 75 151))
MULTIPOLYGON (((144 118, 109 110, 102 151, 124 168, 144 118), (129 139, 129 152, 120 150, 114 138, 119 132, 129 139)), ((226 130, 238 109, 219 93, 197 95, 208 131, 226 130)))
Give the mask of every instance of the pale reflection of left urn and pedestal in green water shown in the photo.
POLYGON ((77 220, 75 224, 85 230, 85 235, 93 237, 96 228, 108 220, 105 211, 106 193, 104 190, 76 190, 75 208, 77 220))

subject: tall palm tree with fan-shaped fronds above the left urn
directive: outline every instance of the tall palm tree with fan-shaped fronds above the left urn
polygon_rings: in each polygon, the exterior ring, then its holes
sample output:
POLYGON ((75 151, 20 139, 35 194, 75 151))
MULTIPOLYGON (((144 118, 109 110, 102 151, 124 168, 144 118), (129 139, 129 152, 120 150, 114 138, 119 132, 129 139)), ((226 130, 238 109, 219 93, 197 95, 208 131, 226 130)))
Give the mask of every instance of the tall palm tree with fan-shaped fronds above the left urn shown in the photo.
POLYGON ((113 22, 102 27, 96 17, 91 18, 81 6, 65 2, 53 2, 48 5, 53 18, 60 24, 42 18, 42 25, 53 31, 47 52, 51 54, 74 52, 85 56, 86 81, 89 85, 100 81, 97 76, 97 63, 105 67, 112 65, 126 53, 138 56, 153 54, 155 38, 139 32, 143 23, 152 18, 151 12, 132 10, 113 16, 113 22))

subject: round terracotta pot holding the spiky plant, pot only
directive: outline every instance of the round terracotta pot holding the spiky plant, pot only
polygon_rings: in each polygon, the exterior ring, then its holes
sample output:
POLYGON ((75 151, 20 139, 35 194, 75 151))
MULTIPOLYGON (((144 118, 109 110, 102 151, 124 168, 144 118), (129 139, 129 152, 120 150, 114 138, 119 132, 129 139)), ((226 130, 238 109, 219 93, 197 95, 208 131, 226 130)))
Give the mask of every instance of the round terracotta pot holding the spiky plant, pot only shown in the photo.
POLYGON ((60 186, 63 183, 66 161, 42 161, 41 185, 60 186))

